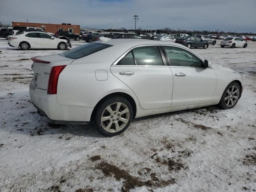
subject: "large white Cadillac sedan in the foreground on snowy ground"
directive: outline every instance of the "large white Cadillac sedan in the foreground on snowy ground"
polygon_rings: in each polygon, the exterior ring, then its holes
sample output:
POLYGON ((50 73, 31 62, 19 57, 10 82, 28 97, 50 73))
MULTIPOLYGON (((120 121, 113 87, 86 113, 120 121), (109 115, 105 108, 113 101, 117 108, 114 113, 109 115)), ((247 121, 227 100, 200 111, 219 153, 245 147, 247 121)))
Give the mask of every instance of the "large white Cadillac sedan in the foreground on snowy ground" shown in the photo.
POLYGON ((52 122, 93 121, 105 136, 133 118, 238 102, 242 75, 172 42, 112 39, 32 58, 30 98, 52 122))

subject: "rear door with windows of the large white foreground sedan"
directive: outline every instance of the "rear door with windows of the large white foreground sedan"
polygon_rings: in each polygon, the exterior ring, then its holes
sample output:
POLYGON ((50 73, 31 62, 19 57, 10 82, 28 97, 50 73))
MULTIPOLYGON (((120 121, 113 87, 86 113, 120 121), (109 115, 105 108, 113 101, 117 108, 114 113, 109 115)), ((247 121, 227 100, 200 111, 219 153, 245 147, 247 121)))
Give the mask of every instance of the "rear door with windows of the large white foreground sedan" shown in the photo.
POLYGON ((143 109, 170 108, 172 104, 173 75, 163 58, 160 46, 138 46, 110 68, 136 94, 143 109))

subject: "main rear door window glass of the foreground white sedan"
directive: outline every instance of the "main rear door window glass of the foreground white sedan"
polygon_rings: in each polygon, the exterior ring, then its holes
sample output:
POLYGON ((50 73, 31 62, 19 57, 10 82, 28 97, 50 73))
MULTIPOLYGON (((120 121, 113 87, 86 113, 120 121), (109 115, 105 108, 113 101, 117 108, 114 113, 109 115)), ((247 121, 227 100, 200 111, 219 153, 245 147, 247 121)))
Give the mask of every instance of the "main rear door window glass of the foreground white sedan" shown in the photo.
POLYGON ((144 46, 132 50, 136 65, 164 65, 157 46, 144 46))

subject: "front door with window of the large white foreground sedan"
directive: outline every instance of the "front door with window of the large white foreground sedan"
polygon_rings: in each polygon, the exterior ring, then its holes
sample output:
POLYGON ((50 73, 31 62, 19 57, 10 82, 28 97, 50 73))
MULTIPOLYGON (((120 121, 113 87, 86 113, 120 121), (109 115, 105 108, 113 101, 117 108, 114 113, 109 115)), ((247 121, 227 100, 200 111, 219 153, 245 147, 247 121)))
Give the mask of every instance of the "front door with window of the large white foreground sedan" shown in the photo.
POLYGON ((202 60, 178 46, 162 46, 173 74, 172 107, 212 102, 217 77, 202 60))

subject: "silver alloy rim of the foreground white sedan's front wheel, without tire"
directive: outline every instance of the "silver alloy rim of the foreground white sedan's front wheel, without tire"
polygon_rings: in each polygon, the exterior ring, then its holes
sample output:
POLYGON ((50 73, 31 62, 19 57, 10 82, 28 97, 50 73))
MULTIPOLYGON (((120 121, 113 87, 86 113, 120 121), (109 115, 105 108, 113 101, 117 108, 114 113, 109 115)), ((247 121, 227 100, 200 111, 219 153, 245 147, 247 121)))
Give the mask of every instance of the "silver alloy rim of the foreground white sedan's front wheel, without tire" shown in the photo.
POLYGON ((230 88, 228 88, 224 102, 227 107, 232 107, 236 104, 239 97, 239 89, 237 86, 232 85, 230 88))

